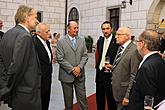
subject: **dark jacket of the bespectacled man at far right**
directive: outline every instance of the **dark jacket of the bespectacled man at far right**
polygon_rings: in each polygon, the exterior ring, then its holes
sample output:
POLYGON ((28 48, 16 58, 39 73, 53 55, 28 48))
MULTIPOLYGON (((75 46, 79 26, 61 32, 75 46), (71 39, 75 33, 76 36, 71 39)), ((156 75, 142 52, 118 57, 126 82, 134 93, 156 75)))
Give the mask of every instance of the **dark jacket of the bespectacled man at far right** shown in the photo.
POLYGON ((138 70, 128 110, 144 110, 145 95, 154 96, 154 106, 165 99, 165 61, 158 53, 149 56, 138 70))

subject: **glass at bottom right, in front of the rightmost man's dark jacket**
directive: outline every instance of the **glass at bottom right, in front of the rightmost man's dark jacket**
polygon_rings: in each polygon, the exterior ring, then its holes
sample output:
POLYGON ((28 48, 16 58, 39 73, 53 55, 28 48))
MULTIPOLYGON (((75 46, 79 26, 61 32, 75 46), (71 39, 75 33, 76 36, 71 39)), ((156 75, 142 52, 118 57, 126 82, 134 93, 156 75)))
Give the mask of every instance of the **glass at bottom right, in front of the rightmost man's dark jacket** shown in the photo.
POLYGON ((150 95, 146 95, 144 97, 144 110, 153 110, 154 97, 150 95))

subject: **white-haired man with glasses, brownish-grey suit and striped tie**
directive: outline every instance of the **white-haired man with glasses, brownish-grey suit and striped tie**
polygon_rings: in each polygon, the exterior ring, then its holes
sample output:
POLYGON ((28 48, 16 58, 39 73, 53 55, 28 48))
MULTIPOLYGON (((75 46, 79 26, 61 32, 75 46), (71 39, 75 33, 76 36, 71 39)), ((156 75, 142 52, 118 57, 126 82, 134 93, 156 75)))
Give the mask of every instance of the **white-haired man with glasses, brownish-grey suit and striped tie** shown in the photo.
POLYGON ((120 27, 116 32, 116 42, 120 44, 112 67, 112 90, 117 110, 125 110, 129 103, 129 92, 138 65, 141 61, 136 45, 131 41, 131 30, 120 27), (119 52, 119 50, 121 50, 119 52))

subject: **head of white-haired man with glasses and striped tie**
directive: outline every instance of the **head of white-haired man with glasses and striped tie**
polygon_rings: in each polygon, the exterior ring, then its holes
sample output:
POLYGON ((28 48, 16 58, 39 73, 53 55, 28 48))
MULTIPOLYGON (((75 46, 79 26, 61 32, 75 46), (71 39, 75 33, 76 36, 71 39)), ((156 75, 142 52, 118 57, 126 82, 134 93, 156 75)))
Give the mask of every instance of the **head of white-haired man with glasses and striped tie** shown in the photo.
POLYGON ((131 30, 128 27, 120 27, 116 32, 116 42, 123 45, 131 40, 131 30))

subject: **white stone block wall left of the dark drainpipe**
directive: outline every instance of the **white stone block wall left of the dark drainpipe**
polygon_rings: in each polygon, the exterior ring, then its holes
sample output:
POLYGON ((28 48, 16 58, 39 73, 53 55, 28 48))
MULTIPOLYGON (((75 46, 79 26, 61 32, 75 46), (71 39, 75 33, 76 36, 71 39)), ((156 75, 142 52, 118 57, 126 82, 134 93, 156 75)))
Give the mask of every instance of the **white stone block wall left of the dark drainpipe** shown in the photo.
POLYGON ((22 4, 43 11, 43 22, 50 25, 52 33, 64 33, 65 0, 0 0, 0 19, 4 21, 4 31, 15 25, 15 12, 22 4))

